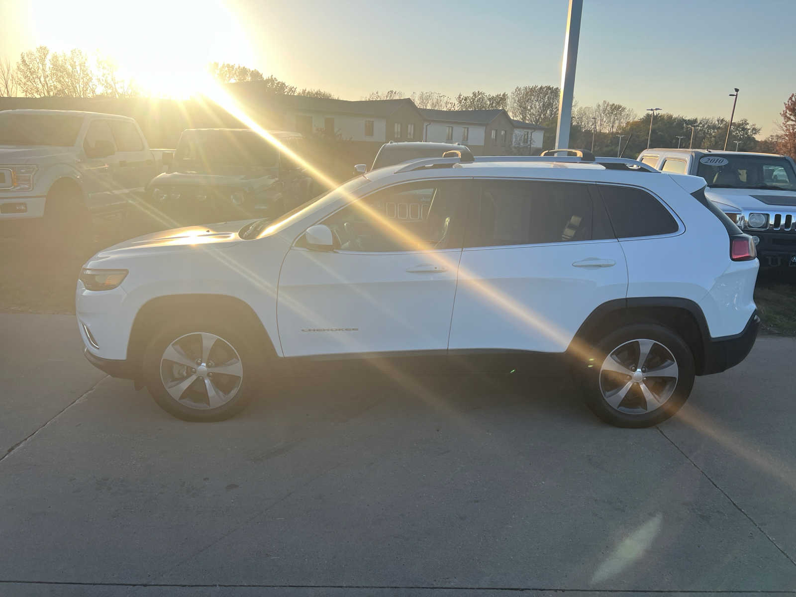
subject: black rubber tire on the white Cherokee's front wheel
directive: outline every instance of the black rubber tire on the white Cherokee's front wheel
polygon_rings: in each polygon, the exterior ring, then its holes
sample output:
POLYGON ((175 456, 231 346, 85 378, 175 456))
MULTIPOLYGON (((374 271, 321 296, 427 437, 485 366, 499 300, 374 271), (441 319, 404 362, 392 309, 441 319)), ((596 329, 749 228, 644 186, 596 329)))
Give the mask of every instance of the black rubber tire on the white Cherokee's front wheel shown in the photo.
MULTIPOLYGON (((199 341, 201 342, 201 338, 199 341)), ((263 361, 266 361, 266 357, 257 352, 255 345, 256 343, 252 341, 251 334, 243 330, 238 323, 224 318, 212 318, 209 316, 185 316, 177 322, 162 326, 162 329, 158 331, 158 334, 146 347, 142 372, 144 382, 158 406, 171 415, 178 417, 178 419, 185 421, 221 421, 229 419, 242 411, 251 402, 256 388, 260 387, 258 378, 262 376, 263 361), (213 344, 213 349, 209 352, 208 362, 215 357, 224 360, 232 356, 231 359, 225 360, 224 363, 238 361, 242 369, 239 386, 234 384, 234 379, 229 379, 236 376, 226 376, 224 373, 220 375, 220 380, 224 385, 217 389, 220 389, 221 392, 228 392, 230 397, 224 404, 216 408, 211 407, 209 390, 203 386, 203 384, 210 382, 209 377, 212 377, 213 369, 209 369, 208 377, 200 377, 199 380, 194 380, 193 384, 188 386, 185 392, 181 394, 181 400, 175 399, 166 389, 165 380, 170 378, 175 371, 173 369, 173 361, 167 361, 166 364, 162 365, 162 357, 164 357, 166 349, 174 345, 175 341, 181 339, 181 347, 185 347, 185 355, 192 357, 192 360, 196 362, 196 358, 201 357, 201 355, 196 353, 195 349, 197 334, 211 334, 225 343, 225 345, 213 344), (191 345, 193 345, 193 349, 191 345), (228 350, 228 347, 231 347, 237 357, 240 357, 239 360, 228 350), (223 354, 219 355, 216 352, 214 356, 213 351, 220 351, 223 354), (202 392, 206 396, 206 404, 202 392)), ((198 365, 197 363, 197 375, 204 373, 200 371, 198 365)), ((182 366, 178 364, 178 369, 182 366)), ((223 363, 220 366, 224 366, 223 363)), ((188 377, 190 376, 190 373, 185 373, 188 377)), ((179 371, 178 374, 181 375, 179 371)), ((219 374, 217 373, 215 383, 220 383, 218 380, 219 374)), ((174 391, 176 392, 177 390, 174 391)))

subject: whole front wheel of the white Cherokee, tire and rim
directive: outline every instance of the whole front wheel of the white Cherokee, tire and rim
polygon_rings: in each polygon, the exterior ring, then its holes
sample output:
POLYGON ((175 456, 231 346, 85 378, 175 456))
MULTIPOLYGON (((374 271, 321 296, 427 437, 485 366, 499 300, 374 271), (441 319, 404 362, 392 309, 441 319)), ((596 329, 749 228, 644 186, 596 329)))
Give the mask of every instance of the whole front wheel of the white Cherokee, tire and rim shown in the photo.
POLYGON ((186 421, 220 421, 240 412, 257 384, 256 353, 236 326, 187 319, 165 326, 144 353, 155 402, 186 421))

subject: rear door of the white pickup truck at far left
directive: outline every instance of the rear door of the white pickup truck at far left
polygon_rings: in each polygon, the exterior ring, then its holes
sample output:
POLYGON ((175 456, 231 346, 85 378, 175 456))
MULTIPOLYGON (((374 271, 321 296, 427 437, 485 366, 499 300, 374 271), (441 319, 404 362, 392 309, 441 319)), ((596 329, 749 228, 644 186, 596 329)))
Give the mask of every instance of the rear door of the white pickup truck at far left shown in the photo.
POLYGON ((152 153, 146 149, 134 122, 115 119, 109 124, 116 143, 116 156, 119 158, 119 193, 126 201, 142 197, 146 184, 156 174, 152 153))

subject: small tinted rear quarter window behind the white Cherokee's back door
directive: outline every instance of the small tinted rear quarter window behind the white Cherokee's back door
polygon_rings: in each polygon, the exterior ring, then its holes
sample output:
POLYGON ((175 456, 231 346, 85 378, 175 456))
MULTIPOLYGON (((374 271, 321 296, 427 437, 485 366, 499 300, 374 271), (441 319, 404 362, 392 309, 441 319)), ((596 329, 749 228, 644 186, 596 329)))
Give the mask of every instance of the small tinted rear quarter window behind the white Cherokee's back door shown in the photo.
POLYGON ((630 186, 599 185, 617 238, 677 232, 677 221, 655 197, 630 186))

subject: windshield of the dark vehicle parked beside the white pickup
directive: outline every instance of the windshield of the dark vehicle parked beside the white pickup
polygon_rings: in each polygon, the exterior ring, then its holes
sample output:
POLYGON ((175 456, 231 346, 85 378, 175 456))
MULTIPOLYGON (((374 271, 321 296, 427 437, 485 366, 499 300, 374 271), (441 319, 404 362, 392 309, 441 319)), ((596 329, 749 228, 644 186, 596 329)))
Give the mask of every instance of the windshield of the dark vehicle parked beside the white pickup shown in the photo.
POLYGON ((174 158, 184 165, 279 166, 279 150, 254 131, 189 131, 180 137, 174 158))

